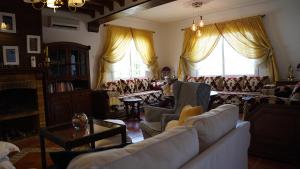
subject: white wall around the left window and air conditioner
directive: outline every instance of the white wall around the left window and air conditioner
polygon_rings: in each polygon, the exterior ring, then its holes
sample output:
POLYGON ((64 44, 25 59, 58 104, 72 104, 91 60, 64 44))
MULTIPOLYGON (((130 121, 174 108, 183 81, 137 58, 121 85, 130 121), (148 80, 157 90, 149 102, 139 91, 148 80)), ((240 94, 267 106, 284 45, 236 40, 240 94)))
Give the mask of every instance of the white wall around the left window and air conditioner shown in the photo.
MULTIPOLYGON (((83 45, 90 45, 91 50, 89 52, 90 56, 90 76, 91 76, 91 86, 92 88, 96 85, 97 80, 97 71, 98 71, 98 58, 102 53, 102 48, 105 43, 105 28, 103 26, 100 27, 99 33, 93 33, 87 31, 86 23, 91 20, 89 16, 78 14, 78 13, 69 13, 57 11, 53 13, 53 10, 43 9, 43 42, 77 42, 83 45), (61 28, 50 28, 47 26, 47 16, 59 16, 65 18, 75 18, 80 20, 80 30, 69 30, 69 29, 61 29, 61 28)), ((158 62, 161 64, 164 54, 164 44, 162 43, 161 36, 161 25, 158 23, 145 21, 137 18, 122 18, 118 20, 114 20, 109 22, 108 24, 112 25, 120 25, 133 27, 138 29, 145 29, 154 31, 154 48, 156 51, 156 55, 158 56, 158 62)), ((162 65, 165 65, 163 63, 162 65)))

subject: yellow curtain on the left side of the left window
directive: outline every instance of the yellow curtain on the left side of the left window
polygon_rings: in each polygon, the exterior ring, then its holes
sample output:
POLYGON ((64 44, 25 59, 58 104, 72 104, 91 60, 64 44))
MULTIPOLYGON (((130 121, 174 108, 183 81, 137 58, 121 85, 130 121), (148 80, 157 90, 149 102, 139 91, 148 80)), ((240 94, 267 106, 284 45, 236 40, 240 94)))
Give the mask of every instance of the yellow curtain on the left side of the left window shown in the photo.
POLYGON ((99 59, 97 88, 100 87, 105 79, 106 63, 116 63, 120 61, 130 47, 130 41, 132 40, 130 28, 108 26, 106 39, 103 49, 104 52, 99 59))

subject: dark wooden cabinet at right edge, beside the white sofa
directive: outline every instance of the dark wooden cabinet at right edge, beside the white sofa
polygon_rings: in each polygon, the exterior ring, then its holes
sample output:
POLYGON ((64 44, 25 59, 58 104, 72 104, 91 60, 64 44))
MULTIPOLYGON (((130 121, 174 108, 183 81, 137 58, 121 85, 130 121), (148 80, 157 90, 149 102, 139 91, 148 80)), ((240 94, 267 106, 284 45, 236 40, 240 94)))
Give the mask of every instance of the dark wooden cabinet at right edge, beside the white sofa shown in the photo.
POLYGON ((249 153, 279 161, 300 161, 300 105, 262 104, 246 114, 250 121, 249 153))

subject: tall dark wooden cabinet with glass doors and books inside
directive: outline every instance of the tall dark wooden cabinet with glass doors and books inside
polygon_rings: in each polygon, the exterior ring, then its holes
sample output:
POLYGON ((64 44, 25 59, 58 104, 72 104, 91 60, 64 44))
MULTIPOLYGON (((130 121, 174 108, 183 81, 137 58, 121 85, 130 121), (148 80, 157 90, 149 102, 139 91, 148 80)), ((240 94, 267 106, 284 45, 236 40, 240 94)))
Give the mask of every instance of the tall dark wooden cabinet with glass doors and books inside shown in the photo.
POLYGON ((46 44, 45 76, 47 125, 70 122, 74 113, 92 115, 90 47, 70 42, 46 44))

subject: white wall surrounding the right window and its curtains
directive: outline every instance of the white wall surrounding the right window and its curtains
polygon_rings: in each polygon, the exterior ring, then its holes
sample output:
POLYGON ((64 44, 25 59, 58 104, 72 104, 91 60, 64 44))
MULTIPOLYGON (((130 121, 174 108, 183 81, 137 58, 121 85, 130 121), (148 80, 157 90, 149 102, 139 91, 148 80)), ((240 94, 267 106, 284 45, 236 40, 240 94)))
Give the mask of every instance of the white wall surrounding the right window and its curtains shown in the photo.
MULTIPOLYGON (((263 21, 277 56, 281 79, 286 79, 288 65, 292 64, 296 69, 296 65, 300 63, 299 7, 299 0, 271 0, 248 7, 204 15, 204 19, 206 23, 216 23, 265 14, 263 21)), ((166 50, 164 59, 167 60, 164 63, 176 69, 176 72, 183 43, 181 29, 189 27, 191 23, 192 18, 189 18, 164 26, 164 36, 167 37, 162 39, 166 50)), ((297 79, 300 79, 300 71, 295 71, 295 74, 297 79)))

